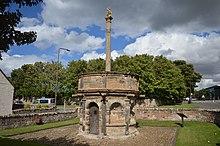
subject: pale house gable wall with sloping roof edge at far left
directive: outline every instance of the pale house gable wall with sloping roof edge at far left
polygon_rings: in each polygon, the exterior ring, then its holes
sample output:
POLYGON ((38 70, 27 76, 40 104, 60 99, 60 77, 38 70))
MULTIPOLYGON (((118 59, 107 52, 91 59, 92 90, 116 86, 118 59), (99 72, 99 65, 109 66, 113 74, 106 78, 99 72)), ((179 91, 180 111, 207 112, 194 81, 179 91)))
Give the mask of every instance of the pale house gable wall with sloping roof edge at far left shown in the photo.
POLYGON ((0 69, 0 116, 12 114, 14 87, 0 69))

